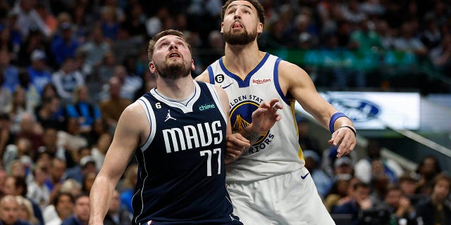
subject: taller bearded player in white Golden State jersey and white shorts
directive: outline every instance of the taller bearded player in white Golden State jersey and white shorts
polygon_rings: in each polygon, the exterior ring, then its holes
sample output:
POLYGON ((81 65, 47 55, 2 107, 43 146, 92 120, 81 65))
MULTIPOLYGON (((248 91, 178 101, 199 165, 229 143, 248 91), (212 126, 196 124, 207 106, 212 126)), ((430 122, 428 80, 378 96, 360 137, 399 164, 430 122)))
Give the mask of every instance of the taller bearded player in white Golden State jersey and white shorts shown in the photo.
POLYGON ((196 79, 217 84, 228 94, 236 135, 236 139, 228 139, 228 147, 233 149, 228 156, 233 160, 240 156, 226 167, 234 213, 244 224, 334 224, 304 167, 297 142, 295 101, 330 129, 328 142, 338 146, 337 157, 354 148, 354 125, 318 94, 307 72, 259 51, 257 35, 264 29, 259 1, 229 0, 221 18, 225 56, 196 79), (280 99, 282 119, 264 134, 246 127, 252 124, 252 111, 271 98, 280 99), (252 146, 241 154, 243 136, 252 146))

